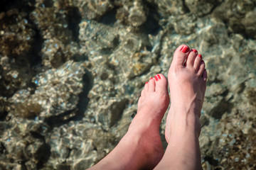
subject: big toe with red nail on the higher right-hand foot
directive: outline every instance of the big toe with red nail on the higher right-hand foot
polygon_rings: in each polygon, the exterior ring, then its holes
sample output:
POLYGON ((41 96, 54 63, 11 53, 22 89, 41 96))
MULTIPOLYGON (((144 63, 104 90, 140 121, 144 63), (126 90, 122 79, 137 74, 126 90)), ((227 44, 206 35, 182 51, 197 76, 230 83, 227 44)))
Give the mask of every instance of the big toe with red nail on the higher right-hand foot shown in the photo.
POLYGON ((176 51, 174 52, 174 59, 171 62, 171 64, 173 65, 179 65, 179 66, 183 66, 186 57, 188 56, 188 52, 189 52, 189 47, 188 45, 181 45, 179 46, 176 51))

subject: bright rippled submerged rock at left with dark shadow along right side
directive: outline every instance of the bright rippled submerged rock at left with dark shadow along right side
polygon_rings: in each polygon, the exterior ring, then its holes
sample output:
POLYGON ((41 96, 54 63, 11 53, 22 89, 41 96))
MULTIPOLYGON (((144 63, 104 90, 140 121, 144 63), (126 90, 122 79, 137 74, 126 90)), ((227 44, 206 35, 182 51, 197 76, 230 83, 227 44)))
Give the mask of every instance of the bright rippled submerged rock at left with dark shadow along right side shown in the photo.
POLYGON ((58 69, 38 74, 33 82, 36 90, 18 91, 11 98, 14 114, 23 118, 49 118, 73 111, 82 92, 85 68, 77 62, 66 62, 58 69))

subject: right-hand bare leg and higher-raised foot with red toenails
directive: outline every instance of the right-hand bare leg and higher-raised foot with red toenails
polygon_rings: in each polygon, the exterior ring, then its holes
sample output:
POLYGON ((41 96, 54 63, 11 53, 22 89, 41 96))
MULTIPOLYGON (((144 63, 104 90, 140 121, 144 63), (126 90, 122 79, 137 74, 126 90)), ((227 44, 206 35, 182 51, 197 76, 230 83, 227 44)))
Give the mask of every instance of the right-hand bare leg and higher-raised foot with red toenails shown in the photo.
POLYGON ((169 145, 156 169, 202 169, 198 137, 206 78, 201 55, 186 45, 178 47, 168 74, 171 108, 165 135, 169 145))

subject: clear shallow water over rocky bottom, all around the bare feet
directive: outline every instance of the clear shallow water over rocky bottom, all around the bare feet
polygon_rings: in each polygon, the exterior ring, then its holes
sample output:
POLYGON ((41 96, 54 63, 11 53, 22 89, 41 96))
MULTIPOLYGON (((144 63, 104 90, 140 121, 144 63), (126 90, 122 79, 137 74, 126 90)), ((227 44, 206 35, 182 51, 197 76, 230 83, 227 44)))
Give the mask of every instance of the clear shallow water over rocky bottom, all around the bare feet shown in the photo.
MULTIPOLYGON (((183 43, 208 69, 203 168, 255 169, 255 2, 4 1, 1 11, 2 169, 97 163, 183 43)), ((165 118, 166 146, 164 128, 165 118)))

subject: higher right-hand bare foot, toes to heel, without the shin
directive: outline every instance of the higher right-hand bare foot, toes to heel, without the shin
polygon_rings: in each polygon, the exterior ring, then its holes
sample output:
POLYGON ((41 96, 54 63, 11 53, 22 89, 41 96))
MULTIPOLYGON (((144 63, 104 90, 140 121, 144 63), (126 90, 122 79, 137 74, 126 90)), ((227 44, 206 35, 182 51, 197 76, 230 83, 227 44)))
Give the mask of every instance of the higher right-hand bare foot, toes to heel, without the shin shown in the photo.
MULTIPOLYGON (((202 55, 196 50, 189 50, 186 45, 179 46, 171 62, 168 81, 171 91, 171 108, 166 120, 166 141, 169 142, 172 126, 177 127, 176 118, 194 117, 187 121, 196 121, 195 130, 200 135, 201 124, 199 118, 203 106, 203 98, 206 91, 207 72, 202 55), (184 64, 186 60, 186 63, 184 64), (175 123, 176 122, 176 123, 175 123)), ((180 122, 178 122, 180 123, 180 122)))

